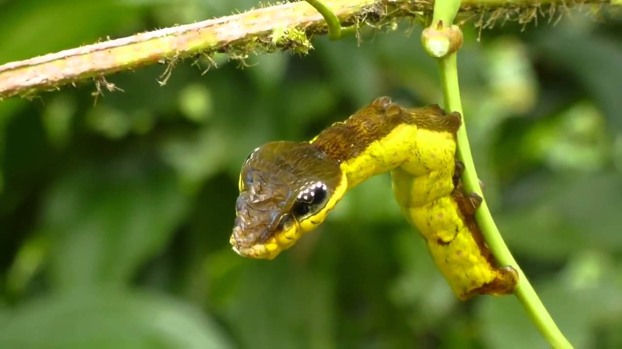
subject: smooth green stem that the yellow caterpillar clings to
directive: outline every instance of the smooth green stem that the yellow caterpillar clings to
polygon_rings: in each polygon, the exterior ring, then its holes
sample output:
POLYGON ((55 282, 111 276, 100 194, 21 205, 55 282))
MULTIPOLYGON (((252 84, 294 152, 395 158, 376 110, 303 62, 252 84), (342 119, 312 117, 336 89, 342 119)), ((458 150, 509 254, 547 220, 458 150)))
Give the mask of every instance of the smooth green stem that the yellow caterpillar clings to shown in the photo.
MULTIPOLYGON (((439 20, 442 20, 443 25, 445 26, 451 25, 453 17, 455 17, 455 14, 459 8, 460 0, 437 0, 434 6, 432 25, 437 24, 439 20)), ((440 58, 439 68, 443 86, 443 97, 445 99, 445 108, 450 111, 460 112, 460 114, 464 116, 462 111, 462 102, 460 101, 456 53, 440 58)), ((464 123, 462 124, 462 127, 460 127, 460 130, 458 130, 457 138, 458 159, 465 164, 465 170, 461 176, 463 184, 467 191, 474 191, 483 198, 484 196, 480 188, 480 181, 475 171, 475 163, 473 163, 473 156, 471 156, 471 149, 468 143, 464 123)), ((542 304, 542 301, 537 296, 536 291, 531 286, 531 283, 529 283, 529 279, 527 279, 521 268, 518 266, 518 263, 516 263, 516 260, 514 260, 514 257, 509 252, 508 247, 503 241, 503 237, 501 237, 501 234, 499 233, 499 229, 494 223, 485 199, 481 203, 480 208, 476 211, 475 219, 478 222, 481 232, 484 235, 484 239, 488 244, 488 247, 490 247, 490 250, 496 260, 501 265, 513 266, 513 268, 518 271, 519 284, 514 291, 514 295, 516 295, 518 300, 521 302, 537 330, 552 347, 572 348, 570 342, 568 342, 568 340, 564 337, 552 317, 550 317, 549 312, 545 309, 544 304, 542 304)))

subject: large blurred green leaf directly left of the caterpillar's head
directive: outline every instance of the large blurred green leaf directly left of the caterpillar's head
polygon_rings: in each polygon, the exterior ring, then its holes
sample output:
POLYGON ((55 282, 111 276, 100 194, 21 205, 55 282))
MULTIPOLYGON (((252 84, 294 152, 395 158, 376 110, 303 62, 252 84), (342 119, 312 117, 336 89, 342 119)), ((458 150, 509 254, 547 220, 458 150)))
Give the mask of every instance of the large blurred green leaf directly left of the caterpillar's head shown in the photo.
POLYGON ((172 173, 155 166, 117 162, 68 174, 47 194, 40 223, 53 283, 123 284, 167 243, 187 205, 172 173))

